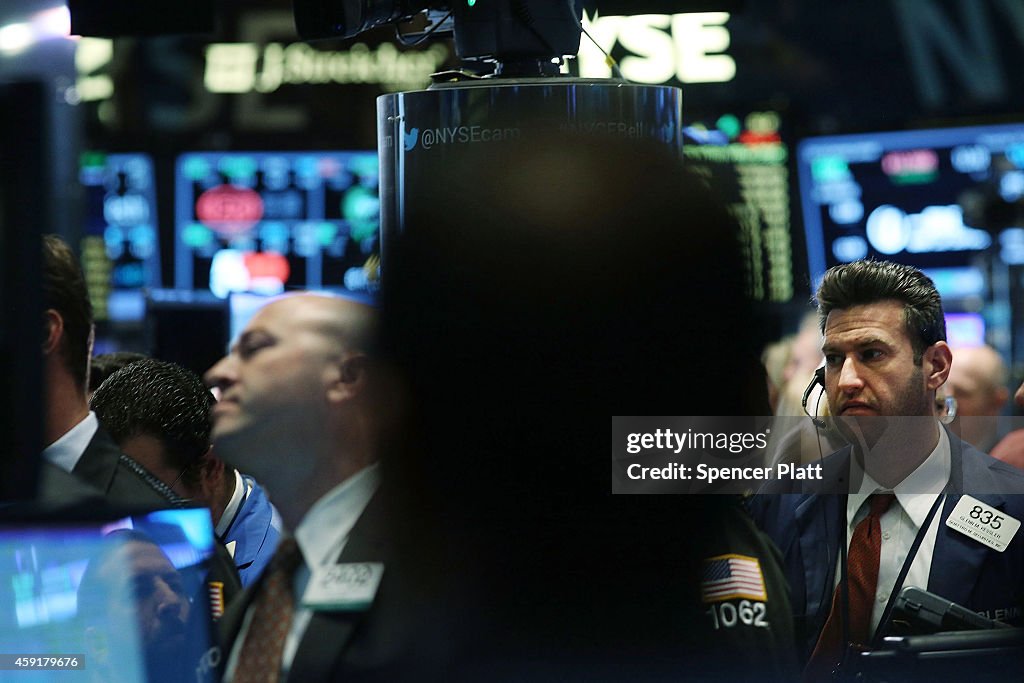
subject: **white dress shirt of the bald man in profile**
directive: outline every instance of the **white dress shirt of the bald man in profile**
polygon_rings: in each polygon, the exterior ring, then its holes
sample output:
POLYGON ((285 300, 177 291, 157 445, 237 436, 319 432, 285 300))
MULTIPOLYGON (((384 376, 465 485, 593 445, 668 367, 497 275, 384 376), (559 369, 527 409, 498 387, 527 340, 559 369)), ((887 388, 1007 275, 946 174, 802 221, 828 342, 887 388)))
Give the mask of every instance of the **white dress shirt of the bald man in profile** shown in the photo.
MULTIPOLYGON (((295 653, 302 642, 302 636, 312 618, 311 609, 302 606, 302 595, 309 583, 310 568, 329 567, 338 561, 338 556, 348 542, 348 535, 356 520, 366 509, 380 485, 380 468, 371 465, 359 470, 354 475, 328 492, 309 509, 309 512, 299 522, 295 529, 295 540, 302 551, 303 563, 295 571, 292 595, 295 596, 295 611, 292 613, 292 625, 285 638, 285 649, 281 661, 281 680, 285 680, 292 668, 295 653)), ((254 603, 255 604, 255 603, 254 603)), ((227 660, 224 681, 229 683, 234 678, 242 644, 249 632, 254 609, 252 605, 245 615, 242 628, 239 630, 234 646, 227 660)))

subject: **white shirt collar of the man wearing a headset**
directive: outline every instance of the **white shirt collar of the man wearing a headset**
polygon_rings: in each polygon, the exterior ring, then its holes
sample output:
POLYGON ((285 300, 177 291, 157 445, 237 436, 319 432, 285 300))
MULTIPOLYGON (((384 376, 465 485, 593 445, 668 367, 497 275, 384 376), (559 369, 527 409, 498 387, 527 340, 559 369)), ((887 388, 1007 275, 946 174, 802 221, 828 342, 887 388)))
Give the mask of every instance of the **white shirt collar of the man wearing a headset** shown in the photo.
MULTIPOLYGON (((928 455, 928 458, 910 472, 902 481, 892 489, 896 494, 896 501, 900 504, 906 514, 910 517, 914 526, 921 528, 925 523, 925 517, 931 509, 935 495, 941 494, 949 481, 950 455, 949 436, 946 430, 938 426, 939 441, 935 449, 928 455)), ((867 472, 861 472, 857 465, 856 458, 850 459, 851 481, 855 481, 854 474, 861 477, 860 488, 851 493, 846 501, 847 523, 852 528, 857 521, 857 511, 860 510, 864 501, 871 494, 886 490, 879 482, 871 478, 867 472), (853 472, 856 468, 857 472, 853 472)))

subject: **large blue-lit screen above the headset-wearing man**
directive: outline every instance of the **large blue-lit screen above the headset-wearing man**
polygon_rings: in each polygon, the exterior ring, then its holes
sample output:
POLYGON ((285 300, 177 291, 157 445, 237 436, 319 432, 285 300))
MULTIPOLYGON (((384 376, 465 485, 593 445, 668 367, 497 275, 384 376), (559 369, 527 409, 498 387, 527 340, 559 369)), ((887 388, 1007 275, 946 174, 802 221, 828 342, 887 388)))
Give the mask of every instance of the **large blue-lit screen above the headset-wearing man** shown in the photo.
POLYGON ((925 270, 943 298, 988 296, 990 255, 1024 263, 1024 124, 805 139, 797 153, 811 278, 865 257, 925 270), (994 249, 993 249, 994 248, 994 249))

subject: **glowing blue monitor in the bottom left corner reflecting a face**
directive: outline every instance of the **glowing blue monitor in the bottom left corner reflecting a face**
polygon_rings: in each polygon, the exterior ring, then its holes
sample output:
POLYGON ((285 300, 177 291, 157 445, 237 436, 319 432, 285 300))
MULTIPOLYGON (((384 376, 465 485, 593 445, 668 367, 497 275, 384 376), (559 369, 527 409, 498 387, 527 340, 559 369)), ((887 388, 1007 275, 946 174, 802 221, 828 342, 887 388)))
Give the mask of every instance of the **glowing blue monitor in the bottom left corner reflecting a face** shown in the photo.
POLYGON ((82 665, 33 680, 211 680, 213 543, 205 508, 0 523, 0 650, 82 665))

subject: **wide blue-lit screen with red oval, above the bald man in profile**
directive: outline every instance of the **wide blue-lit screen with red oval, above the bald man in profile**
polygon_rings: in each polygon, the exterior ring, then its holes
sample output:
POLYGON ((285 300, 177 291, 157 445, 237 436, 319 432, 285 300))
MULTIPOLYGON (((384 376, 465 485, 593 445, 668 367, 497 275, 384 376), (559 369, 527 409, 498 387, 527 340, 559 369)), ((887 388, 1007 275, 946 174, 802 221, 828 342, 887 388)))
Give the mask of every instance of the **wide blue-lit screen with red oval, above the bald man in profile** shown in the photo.
POLYGON ((376 152, 203 152, 175 166, 174 286, 220 298, 373 293, 376 152))

